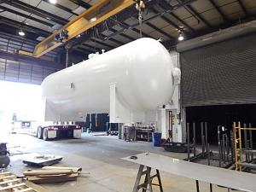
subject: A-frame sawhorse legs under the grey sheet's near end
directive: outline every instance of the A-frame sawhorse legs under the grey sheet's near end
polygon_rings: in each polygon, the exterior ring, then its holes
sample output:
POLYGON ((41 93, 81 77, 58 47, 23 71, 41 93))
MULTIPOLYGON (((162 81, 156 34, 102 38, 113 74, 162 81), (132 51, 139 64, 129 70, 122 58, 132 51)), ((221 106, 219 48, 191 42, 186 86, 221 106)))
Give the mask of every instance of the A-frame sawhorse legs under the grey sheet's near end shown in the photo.
POLYGON ((153 176, 150 175, 151 170, 152 169, 149 166, 140 165, 132 192, 138 192, 140 189, 143 189, 143 192, 146 192, 147 190, 149 190, 149 192, 153 192, 152 185, 159 186, 160 192, 163 192, 159 170, 156 169, 156 174, 153 176), (144 170, 144 168, 146 169, 144 170), (143 175, 145 175, 144 182, 140 183, 143 175), (157 177, 158 183, 152 183, 154 177, 157 177))

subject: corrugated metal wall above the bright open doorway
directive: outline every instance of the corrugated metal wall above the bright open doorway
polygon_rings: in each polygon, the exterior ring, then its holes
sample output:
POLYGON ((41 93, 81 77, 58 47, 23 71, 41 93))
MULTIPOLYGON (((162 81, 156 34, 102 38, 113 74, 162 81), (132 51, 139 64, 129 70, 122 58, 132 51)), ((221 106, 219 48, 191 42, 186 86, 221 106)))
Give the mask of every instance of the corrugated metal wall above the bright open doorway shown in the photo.
MULTIPOLYGON (((0 50, 16 53, 18 49, 32 52, 37 42, 26 38, 0 32, 0 50)), ((48 56, 56 56, 57 52, 49 52, 48 56)), ((43 79, 50 73, 55 73, 55 67, 46 67, 44 64, 32 64, 0 58, 0 80, 15 81, 20 83, 41 84, 43 79)))

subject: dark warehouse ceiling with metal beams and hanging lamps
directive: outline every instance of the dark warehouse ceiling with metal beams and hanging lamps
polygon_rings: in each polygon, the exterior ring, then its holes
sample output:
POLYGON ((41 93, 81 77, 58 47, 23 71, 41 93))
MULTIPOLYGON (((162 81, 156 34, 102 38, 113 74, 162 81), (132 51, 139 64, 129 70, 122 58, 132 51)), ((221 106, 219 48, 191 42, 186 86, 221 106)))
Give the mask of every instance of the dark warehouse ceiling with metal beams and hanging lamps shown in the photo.
MULTIPOLYGON (((0 0, 0 51, 32 52, 34 46, 98 0, 0 0), (18 32, 26 32, 20 37, 18 32)), ((143 37, 163 39, 171 48, 180 32, 195 38, 255 19, 255 0, 148 0, 143 11, 143 37)), ((88 55, 101 49, 114 49, 139 38, 137 9, 131 6, 93 27, 70 42, 73 53, 88 55)), ((50 51, 57 58, 65 49, 50 51)), ((1 55, 0 55, 1 56, 1 55)))

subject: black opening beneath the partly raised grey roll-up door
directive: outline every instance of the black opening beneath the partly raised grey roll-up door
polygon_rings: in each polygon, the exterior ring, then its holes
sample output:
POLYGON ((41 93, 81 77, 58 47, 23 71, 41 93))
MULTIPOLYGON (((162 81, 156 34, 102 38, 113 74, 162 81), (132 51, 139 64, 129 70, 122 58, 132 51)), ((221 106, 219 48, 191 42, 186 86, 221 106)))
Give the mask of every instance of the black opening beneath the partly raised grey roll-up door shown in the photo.
MULTIPOLYGON (((207 122, 208 143, 217 145, 218 125, 223 125, 229 132, 235 121, 240 121, 241 126, 247 124, 248 127, 251 123, 256 127, 256 104, 189 107, 186 108, 186 120, 190 123, 190 132, 195 123, 196 143, 201 143, 201 122, 207 122)), ((255 144, 256 131, 253 131, 253 141, 255 144)))

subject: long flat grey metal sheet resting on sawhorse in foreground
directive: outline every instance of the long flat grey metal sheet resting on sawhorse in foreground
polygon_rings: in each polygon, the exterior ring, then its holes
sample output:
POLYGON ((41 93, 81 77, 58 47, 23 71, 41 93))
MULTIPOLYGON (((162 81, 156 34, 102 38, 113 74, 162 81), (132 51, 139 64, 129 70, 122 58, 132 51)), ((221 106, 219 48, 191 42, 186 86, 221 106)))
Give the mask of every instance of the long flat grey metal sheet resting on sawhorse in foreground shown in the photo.
MULTIPOLYGON (((185 160, 174 159, 172 157, 167 157, 160 154, 143 153, 137 154, 135 156, 137 157, 137 159, 131 159, 131 156, 122 159, 141 165, 141 173, 143 172, 144 166, 146 166, 147 168, 150 167, 150 170, 151 168, 154 168, 157 171, 169 172, 179 177, 188 177, 197 181, 213 183, 229 189, 239 189, 241 191, 256 192, 256 175, 251 173, 227 170, 214 166, 205 166, 201 164, 191 163, 185 160)), ((137 175, 138 181, 136 181, 137 183, 135 184, 138 186, 139 180, 143 175, 139 175, 139 172, 137 175)), ((150 171, 148 173, 148 178, 150 178, 150 171)), ((148 189, 148 183, 150 183, 149 185, 151 185, 152 178, 148 181, 149 182, 147 183, 143 183, 146 184, 145 189, 148 189)), ((138 189, 141 188, 143 187, 137 188, 137 186, 135 186, 133 191, 138 191, 138 189)), ((149 191, 150 190, 152 191, 152 186, 149 186, 149 191)))

